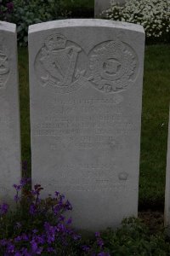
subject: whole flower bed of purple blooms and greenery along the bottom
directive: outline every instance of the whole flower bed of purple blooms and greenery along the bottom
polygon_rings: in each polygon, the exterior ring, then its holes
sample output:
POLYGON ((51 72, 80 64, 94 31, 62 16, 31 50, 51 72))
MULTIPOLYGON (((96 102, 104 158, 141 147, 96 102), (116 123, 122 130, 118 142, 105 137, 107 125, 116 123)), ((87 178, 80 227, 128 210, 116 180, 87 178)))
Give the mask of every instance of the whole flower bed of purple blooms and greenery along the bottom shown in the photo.
POLYGON ((87 240, 71 228, 71 203, 55 191, 41 198, 41 185, 29 189, 30 179, 14 184, 16 209, 0 205, 0 255, 111 256, 169 255, 170 243, 162 230, 150 230, 138 218, 127 218, 117 230, 96 232, 87 240), (22 189, 22 194, 20 193, 22 189))

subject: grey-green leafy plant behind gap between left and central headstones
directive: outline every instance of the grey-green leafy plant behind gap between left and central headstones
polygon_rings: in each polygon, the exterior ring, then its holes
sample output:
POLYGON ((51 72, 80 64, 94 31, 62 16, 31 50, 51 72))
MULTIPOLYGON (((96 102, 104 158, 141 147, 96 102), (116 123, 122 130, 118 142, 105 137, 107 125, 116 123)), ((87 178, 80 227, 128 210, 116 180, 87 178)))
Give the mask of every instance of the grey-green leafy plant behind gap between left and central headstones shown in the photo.
POLYGON ((17 24, 20 46, 28 41, 28 26, 67 17, 63 0, 14 0, 13 22, 17 24))

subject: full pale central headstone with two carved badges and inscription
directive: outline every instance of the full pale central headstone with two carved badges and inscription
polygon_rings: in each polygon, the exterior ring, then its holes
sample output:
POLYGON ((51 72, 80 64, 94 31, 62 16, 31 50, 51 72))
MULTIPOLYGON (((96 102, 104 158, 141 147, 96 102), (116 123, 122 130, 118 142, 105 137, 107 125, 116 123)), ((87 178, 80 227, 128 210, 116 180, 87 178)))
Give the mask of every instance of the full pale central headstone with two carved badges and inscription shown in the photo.
POLYGON ((32 179, 71 201, 82 230, 138 212, 142 26, 58 20, 29 28, 32 179))

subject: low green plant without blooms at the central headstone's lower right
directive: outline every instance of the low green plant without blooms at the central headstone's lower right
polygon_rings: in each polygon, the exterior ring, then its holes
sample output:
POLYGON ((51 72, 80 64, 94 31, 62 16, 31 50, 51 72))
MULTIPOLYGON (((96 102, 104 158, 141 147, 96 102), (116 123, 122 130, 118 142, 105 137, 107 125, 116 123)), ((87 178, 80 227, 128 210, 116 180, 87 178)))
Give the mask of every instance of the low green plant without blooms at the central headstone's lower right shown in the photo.
POLYGON ((122 227, 115 232, 107 230, 103 236, 105 248, 114 256, 169 255, 170 244, 161 232, 151 235, 148 228, 138 218, 126 218, 122 227))

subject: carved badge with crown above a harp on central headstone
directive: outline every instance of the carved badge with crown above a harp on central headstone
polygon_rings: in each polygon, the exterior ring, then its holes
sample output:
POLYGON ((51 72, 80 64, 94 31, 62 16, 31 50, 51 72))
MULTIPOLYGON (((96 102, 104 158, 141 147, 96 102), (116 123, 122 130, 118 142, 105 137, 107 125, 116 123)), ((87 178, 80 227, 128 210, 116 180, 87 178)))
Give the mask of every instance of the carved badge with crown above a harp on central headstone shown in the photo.
POLYGON ((35 61, 40 84, 54 86, 60 93, 77 90, 82 86, 86 59, 82 48, 63 35, 49 36, 35 61))

